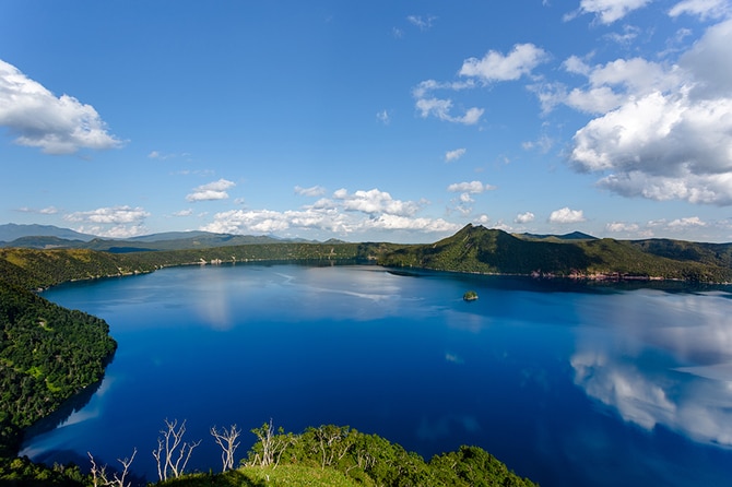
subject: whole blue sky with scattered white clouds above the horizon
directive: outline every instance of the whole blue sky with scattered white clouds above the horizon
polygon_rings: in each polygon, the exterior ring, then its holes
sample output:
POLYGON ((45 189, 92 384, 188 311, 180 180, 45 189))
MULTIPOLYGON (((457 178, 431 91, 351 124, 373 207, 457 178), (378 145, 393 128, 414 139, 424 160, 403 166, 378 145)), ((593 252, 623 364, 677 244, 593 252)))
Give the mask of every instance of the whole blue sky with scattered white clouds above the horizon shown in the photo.
POLYGON ((730 0, 0 3, 0 223, 732 241, 730 0))

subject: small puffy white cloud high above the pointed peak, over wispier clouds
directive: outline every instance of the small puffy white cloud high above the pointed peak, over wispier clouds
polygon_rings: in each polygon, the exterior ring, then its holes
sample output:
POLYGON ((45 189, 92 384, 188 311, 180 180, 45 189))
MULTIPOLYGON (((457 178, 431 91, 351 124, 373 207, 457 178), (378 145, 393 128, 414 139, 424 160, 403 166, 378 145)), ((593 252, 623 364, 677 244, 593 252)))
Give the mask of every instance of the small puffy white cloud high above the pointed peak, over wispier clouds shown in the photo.
POLYGON ((518 80, 531 73, 546 58, 546 51, 533 44, 517 44, 507 56, 491 50, 483 59, 467 59, 460 68, 460 75, 474 76, 483 82, 518 80))

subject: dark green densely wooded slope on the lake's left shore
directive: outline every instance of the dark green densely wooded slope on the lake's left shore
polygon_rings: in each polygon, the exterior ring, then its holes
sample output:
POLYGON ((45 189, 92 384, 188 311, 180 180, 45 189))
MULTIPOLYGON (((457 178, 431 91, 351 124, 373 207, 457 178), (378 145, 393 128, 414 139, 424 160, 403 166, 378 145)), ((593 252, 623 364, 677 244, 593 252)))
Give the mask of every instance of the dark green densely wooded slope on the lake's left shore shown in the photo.
POLYGON ((0 284, 0 449, 20 429, 98 381, 115 352, 104 320, 0 284))

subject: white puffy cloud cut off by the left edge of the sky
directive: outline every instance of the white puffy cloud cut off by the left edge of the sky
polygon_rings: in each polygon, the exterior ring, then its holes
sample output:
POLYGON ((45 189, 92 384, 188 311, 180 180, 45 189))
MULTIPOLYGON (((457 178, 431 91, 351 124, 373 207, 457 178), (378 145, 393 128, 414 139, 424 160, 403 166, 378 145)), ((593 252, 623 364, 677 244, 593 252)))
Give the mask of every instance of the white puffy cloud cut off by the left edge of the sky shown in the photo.
POLYGON ((46 154, 73 154, 81 149, 114 149, 121 141, 91 105, 69 95, 57 97, 17 68, 0 60, 0 126, 15 142, 46 154))

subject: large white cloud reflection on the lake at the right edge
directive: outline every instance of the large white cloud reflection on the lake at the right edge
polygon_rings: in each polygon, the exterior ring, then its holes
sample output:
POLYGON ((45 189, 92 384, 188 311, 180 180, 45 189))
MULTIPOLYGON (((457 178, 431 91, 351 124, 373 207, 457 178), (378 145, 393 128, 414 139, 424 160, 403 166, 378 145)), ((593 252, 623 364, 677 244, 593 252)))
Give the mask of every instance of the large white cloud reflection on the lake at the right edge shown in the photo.
MULTIPOLYGON (((661 425, 732 447, 732 304, 719 294, 647 292, 641 306, 659 320, 640 322, 634 310, 615 309, 627 313, 610 320, 615 328, 578 330, 575 383, 647 430, 661 425)), ((592 323, 595 312, 581 318, 592 323)))

